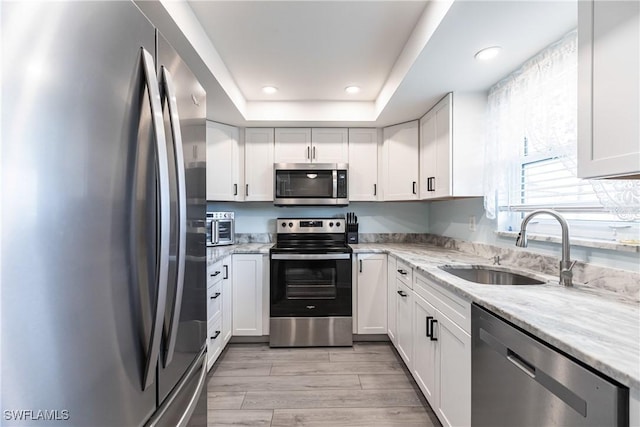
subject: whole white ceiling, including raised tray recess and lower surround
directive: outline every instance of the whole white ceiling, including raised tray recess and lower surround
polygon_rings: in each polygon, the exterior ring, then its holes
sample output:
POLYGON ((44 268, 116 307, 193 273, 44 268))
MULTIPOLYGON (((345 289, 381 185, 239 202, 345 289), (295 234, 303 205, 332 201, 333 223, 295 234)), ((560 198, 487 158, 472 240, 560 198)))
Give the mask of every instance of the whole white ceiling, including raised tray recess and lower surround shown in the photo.
POLYGON ((486 91, 571 29, 577 0, 139 1, 236 126, 386 126, 486 91), (503 47, 491 63, 479 49, 503 47), (357 96, 344 88, 361 86, 357 96), (280 90, 261 92, 264 85, 280 90))

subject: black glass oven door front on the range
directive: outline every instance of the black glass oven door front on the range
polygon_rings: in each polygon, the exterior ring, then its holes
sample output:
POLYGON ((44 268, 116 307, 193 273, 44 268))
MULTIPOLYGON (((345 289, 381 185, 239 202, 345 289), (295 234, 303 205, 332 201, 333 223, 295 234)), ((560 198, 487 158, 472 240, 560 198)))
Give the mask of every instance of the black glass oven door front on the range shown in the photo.
POLYGON ((271 317, 351 315, 351 260, 272 260, 271 317))

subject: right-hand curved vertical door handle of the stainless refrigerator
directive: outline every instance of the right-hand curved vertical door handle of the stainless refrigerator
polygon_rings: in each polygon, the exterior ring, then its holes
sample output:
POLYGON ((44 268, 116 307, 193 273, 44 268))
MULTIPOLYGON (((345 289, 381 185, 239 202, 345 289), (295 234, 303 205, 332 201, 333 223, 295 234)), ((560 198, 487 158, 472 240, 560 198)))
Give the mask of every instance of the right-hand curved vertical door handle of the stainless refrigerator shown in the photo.
POLYGON ((167 108, 169 110, 169 121, 171 123, 172 147, 176 163, 176 187, 178 218, 176 220, 178 228, 178 251, 176 275, 176 294, 173 298, 173 308, 169 320, 167 336, 169 338, 165 350, 164 367, 166 368, 173 360, 173 353, 176 348, 178 337, 178 324, 180 323, 180 310, 182 309, 182 292, 184 289, 184 265, 187 242, 187 190, 186 175, 184 170, 184 156, 182 154, 182 133, 180 131, 180 116, 178 114, 178 103, 176 102, 176 90, 173 85, 171 73, 164 66, 162 67, 162 84, 166 95, 167 108))

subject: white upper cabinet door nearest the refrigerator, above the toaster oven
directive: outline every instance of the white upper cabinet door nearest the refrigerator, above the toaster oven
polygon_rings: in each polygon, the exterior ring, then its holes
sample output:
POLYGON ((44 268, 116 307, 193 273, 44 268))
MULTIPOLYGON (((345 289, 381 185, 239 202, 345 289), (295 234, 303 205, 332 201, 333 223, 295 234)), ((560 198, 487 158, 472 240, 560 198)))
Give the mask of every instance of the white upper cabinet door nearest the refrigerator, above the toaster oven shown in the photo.
POLYGON ((242 200, 238 128, 207 121, 207 200, 242 200))

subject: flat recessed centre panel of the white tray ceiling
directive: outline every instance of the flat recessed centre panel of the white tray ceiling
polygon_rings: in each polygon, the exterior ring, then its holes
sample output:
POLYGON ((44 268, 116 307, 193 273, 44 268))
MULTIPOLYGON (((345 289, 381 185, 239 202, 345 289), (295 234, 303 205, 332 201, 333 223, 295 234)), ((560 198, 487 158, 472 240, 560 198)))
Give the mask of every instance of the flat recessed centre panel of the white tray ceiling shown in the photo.
POLYGON ((189 5, 246 100, 375 101, 426 2, 189 5), (349 85, 362 91, 349 95, 349 85))

